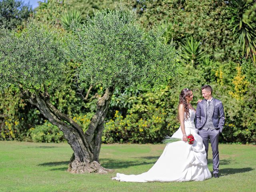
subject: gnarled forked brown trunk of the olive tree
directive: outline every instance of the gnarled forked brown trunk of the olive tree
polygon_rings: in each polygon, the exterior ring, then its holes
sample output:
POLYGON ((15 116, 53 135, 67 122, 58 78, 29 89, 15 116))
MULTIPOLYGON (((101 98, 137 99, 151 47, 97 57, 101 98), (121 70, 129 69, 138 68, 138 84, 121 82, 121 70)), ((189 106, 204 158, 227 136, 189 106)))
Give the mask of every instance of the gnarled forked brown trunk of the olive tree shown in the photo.
POLYGON ((112 171, 100 165, 99 154, 104 118, 108 112, 113 92, 114 88, 108 88, 104 95, 98 99, 96 113, 92 117, 85 134, 81 126, 74 122, 72 118, 61 113, 51 104, 47 92, 38 92, 29 96, 29 102, 35 105, 49 122, 60 128, 64 133, 64 138, 74 151, 68 165, 69 172, 98 172, 104 174, 112 171))

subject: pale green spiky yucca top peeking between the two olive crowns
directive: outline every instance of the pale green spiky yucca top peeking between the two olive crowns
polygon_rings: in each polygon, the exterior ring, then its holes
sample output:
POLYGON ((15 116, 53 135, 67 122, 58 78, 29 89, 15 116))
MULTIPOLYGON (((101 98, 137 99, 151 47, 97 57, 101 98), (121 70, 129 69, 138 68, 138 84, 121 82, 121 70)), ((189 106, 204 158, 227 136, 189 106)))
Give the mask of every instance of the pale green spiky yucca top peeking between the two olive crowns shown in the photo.
POLYGON ((71 30, 70 25, 71 25, 73 20, 75 20, 78 23, 82 23, 83 22, 82 13, 77 11, 77 10, 72 10, 72 11, 69 11, 69 12, 65 12, 60 17, 61 24, 62 24, 63 28, 67 31, 71 30))

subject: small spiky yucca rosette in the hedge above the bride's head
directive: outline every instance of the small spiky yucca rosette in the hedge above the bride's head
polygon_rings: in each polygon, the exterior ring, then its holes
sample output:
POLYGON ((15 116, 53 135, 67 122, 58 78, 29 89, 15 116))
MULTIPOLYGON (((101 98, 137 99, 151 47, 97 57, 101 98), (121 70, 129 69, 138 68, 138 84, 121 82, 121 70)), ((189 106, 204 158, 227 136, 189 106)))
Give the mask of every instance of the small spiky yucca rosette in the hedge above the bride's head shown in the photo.
POLYGON ((200 41, 194 40, 190 37, 182 44, 181 56, 186 60, 191 62, 192 65, 198 64, 199 61, 204 58, 204 51, 200 48, 200 41))

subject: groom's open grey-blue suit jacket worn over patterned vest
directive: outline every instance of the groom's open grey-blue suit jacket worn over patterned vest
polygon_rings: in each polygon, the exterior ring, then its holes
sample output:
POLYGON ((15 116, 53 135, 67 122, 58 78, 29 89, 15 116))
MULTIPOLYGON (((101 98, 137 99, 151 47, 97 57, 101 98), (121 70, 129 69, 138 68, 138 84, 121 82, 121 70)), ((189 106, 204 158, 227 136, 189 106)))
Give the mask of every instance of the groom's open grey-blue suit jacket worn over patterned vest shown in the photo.
MULTIPOLYGON (((206 123, 207 115, 206 115, 206 103, 207 101, 204 99, 202 102, 199 102, 196 106, 196 128, 201 129, 206 123)), ((225 122, 225 114, 222 102, 218 99, 212 99, 212 105, 214 105, 214 112, 212 114, 212 122, 214 127, 222 132, 224 122, 225 122)))

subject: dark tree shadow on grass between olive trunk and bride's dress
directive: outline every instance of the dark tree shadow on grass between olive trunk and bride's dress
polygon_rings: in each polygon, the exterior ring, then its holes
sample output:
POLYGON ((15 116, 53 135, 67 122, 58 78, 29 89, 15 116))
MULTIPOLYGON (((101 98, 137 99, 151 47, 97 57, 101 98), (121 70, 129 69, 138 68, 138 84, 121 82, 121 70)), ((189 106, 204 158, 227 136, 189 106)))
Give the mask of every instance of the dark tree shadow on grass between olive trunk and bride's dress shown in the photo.
POLYGON ((116 160, 116 159, 110 159, 110 158, 103 158, 103 159, 100 159, 100 163, 103 167, 109 168, 109 169, 128 168, 130 166, 154 164, 159 157, 157 156, 157 157, 139 157, 139 158, 140 159, 144 158, 150 161, 145 161, 145 160, 129 161, 129 160, 116 160))

